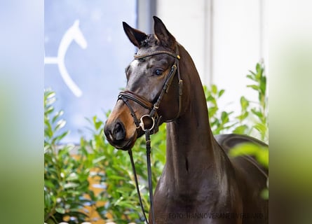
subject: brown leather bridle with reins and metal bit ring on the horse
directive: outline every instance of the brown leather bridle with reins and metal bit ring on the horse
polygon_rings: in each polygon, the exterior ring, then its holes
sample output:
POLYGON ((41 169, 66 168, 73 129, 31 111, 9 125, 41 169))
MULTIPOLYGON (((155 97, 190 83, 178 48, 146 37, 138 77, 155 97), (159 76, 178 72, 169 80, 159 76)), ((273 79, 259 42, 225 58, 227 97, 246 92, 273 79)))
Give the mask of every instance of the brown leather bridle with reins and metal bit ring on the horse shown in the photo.
MULTIPOLYGON (((145 57, 151 57, 154 55, 170 55, 171 57, 175 57, 175 63, 172 65, 170 72, 167 76, 167 78, 165 79, 165 83, 163 84, 163 88, 160 92, 160 94, 158 95, 158 98, 156 100, 156 102, 154 104, 152 104, 151 102, 149 102, 149 100, 147 100, 145 97, 142 97, 138 94, 136 94, 135 92, 131 92, 129 90, 125 90, 125 91, 121 91, 118 94, 118 100, 122 99, 123 102, 128 106, 128 109, 130 110, 131 116, 133 117, 135 126, 137 127, 137 129, 142 129, 145 132, 145 140, 146 140, 146 148, 147 148, 147 174, 148 174, 148 182, 149 182, 149 201, 151 204, 151 221, 154 224, 155 223, 155 214, 154 214, 154 197, 153 197, 153 186, 152 186, 152 181, 151 181, 151 139, 150 139, 150 135, 151 134, 155 134, 156 132, 158 132, 158 126, 161 123, 161 116, 158 116, 157 113, 157 109, 159 107, 159 104, 161 104, 161 100, 163 99, 163 95, 165 93, 168 93, 169 87, 172 83, 172 80, 175 76, 175 73, 177 73, 178 76, 178 80, 179 80, 179 99, 178 99, 178 103, 179 103, 179 111, 177 113, 177 116, 175 116, 175 118, 173 118, 172 120, 165 120, 165 122, 171 122, 175 119, 177 119, 179 117, 179 114, 181 112, 181 104, 182 104, 182 94, 183 94, 183 80, 181 79, 180 73, 179 73, 179 50, 176 46, 176 52, 170 52, 170 51, 166 51, 166 50, 156 50, 156 51, 152 51, 152 52, 148 52, 145 55, 135 55, 135 59, 143 59, 145 57), (139 119, 137 119, 137 116, 135 115, 135 111, 133 110, 132 106, 129 103, 129 100, 132 100, 133 102, 136 102, 137 104, 140 104, 141 106, 143 106, 145 109, 148 109, 150 112, 149 114, 146 114, 144 116, 142 116, 139 119), (147 121, 151 121, 151 125, 146 125, 147 121)), ((145 221, 147 222, 147 224, 149 223, 147 221, 147 216, 145 214, 144 211, 144 207, 142 204, 142 197, 140 194, 140 189, 139 189, 139 184, 137 181, 137 173, 135 171, 135 162, 133 161, 133 152, 131 150, 131 148, 128 150, 129 156, 130 156, 130 161, 131 161, 131 166, 133 169, 133 175, 135 177, 135 187, 137 188, 137 195, 139 197, 140 200, 140 206, 142 209, 142 213, 144 215, 145 221)))

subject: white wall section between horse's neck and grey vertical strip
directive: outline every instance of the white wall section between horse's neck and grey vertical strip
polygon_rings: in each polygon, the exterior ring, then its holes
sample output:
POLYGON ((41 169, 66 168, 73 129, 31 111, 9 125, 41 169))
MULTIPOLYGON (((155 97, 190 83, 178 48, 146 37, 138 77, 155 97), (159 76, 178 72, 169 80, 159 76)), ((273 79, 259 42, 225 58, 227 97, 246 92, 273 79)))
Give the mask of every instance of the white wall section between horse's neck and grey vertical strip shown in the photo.
POLYGON ((158 0, 156 13, 170 33, 184 45, 205 80, 205 0, 158 0))

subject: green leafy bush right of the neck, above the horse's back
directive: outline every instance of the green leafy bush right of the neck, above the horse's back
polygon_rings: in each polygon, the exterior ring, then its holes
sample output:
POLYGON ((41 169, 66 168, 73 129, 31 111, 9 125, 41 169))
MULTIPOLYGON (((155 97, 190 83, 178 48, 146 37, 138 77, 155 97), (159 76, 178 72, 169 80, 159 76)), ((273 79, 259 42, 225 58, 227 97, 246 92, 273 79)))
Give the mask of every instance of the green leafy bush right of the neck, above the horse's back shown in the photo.
POLYGON ((240 114, 233 117, 233 111, 220 111, 217 102, 224 95, 225 90, 218 90, 216 85, 210 88, 204 86, 206 101, 208 104, 208 114, 210 127, 214 134, 224 134, 226 132, 236 134, 247 134, 262 141, 269 141, 268 123, 268 98, 266 93, 266 76, 264 66, 256 65, 256 71, 250 71, 247 78, 252 80, 252 85, 247 87, 258 93, 258 102, 252 102, 246 97, 240 97, 240 114))

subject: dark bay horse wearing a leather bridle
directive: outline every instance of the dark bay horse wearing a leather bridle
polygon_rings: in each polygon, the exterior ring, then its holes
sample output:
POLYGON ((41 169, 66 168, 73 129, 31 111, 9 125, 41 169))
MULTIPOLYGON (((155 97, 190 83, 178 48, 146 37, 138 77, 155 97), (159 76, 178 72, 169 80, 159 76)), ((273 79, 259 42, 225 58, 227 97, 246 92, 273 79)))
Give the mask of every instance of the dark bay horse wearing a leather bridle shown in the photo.
POLYGON ((154 223, 268 223, 268 202, 260 196, 266 169, 247 156, 226 154, 242 142, 264 144, 237 134, 213 136, 194 62, 159 18, 154 17, 151 35, 126 22, 123 29, 138 51, 126 68, 126 89, 104 134, 112 146, 128 150, 144 128, 156 132, 158 125, 167 123, 166 163, 154 193, 154 223))

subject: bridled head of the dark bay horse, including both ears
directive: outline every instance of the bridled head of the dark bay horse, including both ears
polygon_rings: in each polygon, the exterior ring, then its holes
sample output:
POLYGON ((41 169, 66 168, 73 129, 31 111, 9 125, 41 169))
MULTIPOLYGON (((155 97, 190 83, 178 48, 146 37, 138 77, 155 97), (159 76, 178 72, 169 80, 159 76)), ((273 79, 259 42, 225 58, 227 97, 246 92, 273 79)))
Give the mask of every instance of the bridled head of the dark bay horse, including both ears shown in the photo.
POLYGON ((123 29, 138 50, 126 67, 127 84, 104 127, 111 145, 132 148, 144 129, 156 132, 158 125, 181 113, 182 79, 179 46, 163 22, 154 17, 154 34, 130 27, 123 29))

